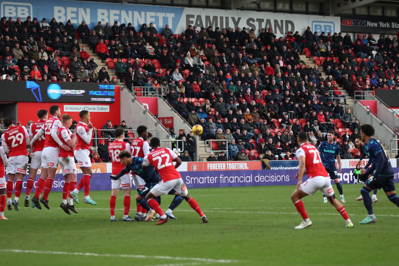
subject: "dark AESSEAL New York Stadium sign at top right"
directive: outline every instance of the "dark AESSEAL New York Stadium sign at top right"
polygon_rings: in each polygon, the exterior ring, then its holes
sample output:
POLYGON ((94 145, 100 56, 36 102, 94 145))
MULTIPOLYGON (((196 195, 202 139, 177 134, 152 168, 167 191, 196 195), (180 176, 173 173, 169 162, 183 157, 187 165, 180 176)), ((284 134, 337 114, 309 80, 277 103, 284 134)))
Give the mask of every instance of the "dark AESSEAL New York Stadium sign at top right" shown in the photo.
MULTIPOLYGON (((343 15, 341 16, 341 31, 378 34, 384 32, 396 36, 399 31, 399 21, 397 17, 343 15)), ((378 36, 375 38, 378 39, 378 36)))

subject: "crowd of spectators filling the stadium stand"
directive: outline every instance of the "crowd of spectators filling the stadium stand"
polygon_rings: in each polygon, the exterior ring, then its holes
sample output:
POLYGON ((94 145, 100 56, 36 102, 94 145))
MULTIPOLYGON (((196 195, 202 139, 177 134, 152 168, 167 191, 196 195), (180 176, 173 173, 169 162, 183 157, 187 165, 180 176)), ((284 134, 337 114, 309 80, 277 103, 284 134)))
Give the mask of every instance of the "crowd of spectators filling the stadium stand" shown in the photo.
MULTIPOLYGON (((55 18, 30 17, 3 17, 0 31, 4 79, 117 83, 119 78, 128 88, 165 92, 164 98, 191 125, 202 125, 202 139, 227 140, 228 154, 222 156, 227 159, 246 159, 243 150, 254 151, 253 156, 246 152, 249 160, 290 158, 300 130, 317 145, 327 131, 337 131, 337 119, 350 136, 359 134, 352 129, 350 110, 343 107, 346 94, 399 88, 398 40, 389 35, 352 41, 349 33, 319 35, 308 27, 302 35, 287 32, 276 38, 271 28, 257 34, 245 27, 192 25, 176 34, 168 25, 158 32, 152 23, 136 30, 131 23, 98 22, 90 29, 85 21, 75 28, 69 20, 64 25, 55 18), (97 71, 87 49, 104 62, 112 60, 117 76, 111 78, 105 67, 97 71), (315 64, 301 61, 301 53, 315 56, 315 64), (237 149, 230 149, 233 140, 237 149)), ((193 158, 189 144, 183 150, 193 158)))

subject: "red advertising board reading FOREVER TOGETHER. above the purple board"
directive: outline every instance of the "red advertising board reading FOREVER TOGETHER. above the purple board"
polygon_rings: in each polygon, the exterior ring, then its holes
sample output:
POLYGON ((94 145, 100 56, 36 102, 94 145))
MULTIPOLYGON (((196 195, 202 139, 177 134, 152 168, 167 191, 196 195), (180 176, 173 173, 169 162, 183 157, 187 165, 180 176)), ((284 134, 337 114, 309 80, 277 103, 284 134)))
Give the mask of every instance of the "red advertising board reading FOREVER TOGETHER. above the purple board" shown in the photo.
POLYGON ((237 170, 262 170, 262 162, 188 162, 187 171, 237 171, 237 170))

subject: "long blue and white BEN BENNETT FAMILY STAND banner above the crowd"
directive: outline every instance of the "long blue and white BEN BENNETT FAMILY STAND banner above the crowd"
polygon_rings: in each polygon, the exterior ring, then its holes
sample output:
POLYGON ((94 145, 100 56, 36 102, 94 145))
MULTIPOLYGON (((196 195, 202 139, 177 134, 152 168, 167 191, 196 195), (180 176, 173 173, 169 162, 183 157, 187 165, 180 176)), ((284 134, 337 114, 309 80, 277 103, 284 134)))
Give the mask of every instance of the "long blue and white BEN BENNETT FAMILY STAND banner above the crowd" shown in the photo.
MULTIPOLYGON (((189 24, 212 28, 243 27, 253 28, 260 32, 261 28, 272 28, 277 36, 285 36, 288 31, 298 30, 302 34, 307 26, 317 32, 340 32, 340 18, 334 16, 298 15, 272 12, 256 12, 240 10, 220 10, 169 7, 157 5, 102 3, 87 1, 63 0, 30 0, 30 1, 0 1, 1 16, 12 17, 14 20, 20 16, 25 20, 28 15, 41 20, 46 17, 49 21, 55 17, 57 22, 66 23, 68 19, 77 26, 85 20, 90 28, 94 28, 98 21, 118 21, 119 24, 129 22, 139 30, 141 24, 150 23, 162 33, 165 25, 175 33, 182 33, 189 24)), ((248 31, 249 31, 248 29, 248 31)))

